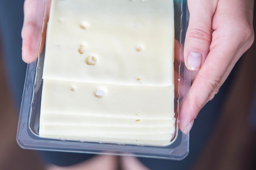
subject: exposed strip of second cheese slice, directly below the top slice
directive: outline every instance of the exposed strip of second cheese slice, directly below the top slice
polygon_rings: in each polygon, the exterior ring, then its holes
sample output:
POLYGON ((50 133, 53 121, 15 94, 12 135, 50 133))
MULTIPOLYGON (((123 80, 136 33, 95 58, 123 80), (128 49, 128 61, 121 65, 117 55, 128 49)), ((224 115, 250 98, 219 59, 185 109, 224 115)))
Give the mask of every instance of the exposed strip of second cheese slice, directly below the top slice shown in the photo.
POLYGON ((119 86, 44 79, 42 113, 170 119, 174 87, 119 86), (102 91, 102 97, 97 96, 102 91))

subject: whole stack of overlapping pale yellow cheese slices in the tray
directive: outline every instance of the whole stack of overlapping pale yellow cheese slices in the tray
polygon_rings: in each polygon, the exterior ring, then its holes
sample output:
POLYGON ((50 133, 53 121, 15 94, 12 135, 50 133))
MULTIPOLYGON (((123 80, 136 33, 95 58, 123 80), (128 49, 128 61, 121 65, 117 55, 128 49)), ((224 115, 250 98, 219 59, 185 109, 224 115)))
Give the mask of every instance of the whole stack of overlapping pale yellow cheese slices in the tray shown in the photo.
POLYGON ((40 137, 166 146, 173 0, 52 0, 40 137))

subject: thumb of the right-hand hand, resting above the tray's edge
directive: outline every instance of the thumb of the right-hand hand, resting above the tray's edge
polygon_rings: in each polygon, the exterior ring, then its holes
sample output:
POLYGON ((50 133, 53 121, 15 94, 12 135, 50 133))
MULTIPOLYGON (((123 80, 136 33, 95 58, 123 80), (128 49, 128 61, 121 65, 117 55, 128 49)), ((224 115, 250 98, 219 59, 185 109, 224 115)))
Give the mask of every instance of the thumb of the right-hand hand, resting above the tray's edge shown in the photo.
POLYGON ((184 43, 184 62, 189 70, 199 70, 209 53, 216 0, 188 0, 188 7, 190 18, 184 43))

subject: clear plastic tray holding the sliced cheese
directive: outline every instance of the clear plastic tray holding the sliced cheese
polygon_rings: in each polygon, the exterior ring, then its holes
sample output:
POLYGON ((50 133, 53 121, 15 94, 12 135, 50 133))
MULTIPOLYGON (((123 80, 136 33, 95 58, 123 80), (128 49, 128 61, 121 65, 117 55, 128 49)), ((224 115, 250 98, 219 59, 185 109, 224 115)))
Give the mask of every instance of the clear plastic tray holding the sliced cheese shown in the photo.
MULTIPOLYGON (((190 87, 190 72, 185 68, 182 53, 182 43, 187 25, 187 8, 183 0, 174 0, 175 17, 175 133, 168 146, 142 146, 132 144, 110 144, 103 142, 72 141, 39 137, 40 104, 43 86, 43 64, 45 50, 35 62, 28 64, 25 87, 20 109, 17 141, 20 147, 34 150, 51 150, 63 152, 80 152, 110 155, 130 155, 137 157, 152 157, 181 160, 189 153, 189 134, 179 130, 179 101, 186 97, 190 87), (185 15, 184 15, 185 14, 185 15), (186 87, 186 88, 183 88, 186 87)), ((180 106, 179 106, 180 104, 180 106)))

